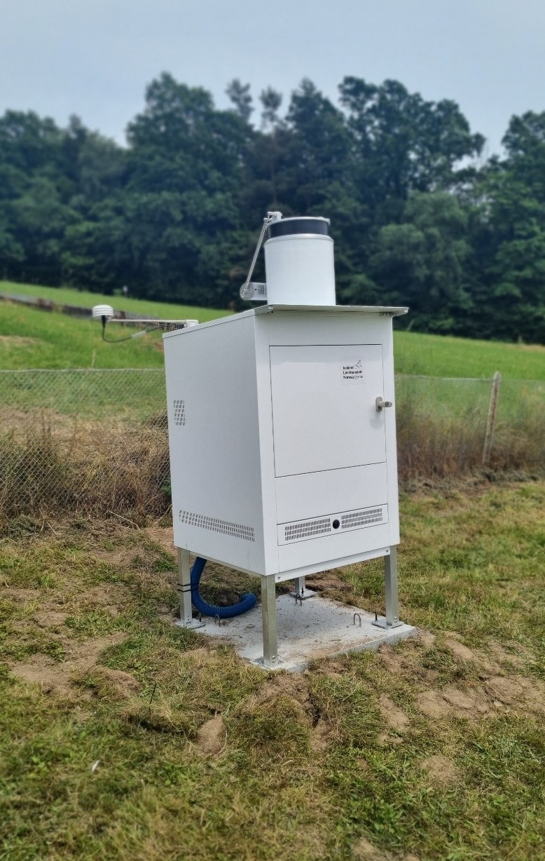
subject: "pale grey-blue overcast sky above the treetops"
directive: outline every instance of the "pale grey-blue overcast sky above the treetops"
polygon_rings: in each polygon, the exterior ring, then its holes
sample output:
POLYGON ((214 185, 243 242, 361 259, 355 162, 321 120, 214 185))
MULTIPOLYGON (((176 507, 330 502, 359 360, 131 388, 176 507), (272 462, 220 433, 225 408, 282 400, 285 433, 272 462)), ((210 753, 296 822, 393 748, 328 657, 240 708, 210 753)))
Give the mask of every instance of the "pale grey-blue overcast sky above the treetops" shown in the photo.
POLYGON ((346 75, 454 99, 499 152, 509 118, 545 110, 545 0, 0 0, 0 112, 70 114, 119 142, 162 71, 205 86, 346 75))

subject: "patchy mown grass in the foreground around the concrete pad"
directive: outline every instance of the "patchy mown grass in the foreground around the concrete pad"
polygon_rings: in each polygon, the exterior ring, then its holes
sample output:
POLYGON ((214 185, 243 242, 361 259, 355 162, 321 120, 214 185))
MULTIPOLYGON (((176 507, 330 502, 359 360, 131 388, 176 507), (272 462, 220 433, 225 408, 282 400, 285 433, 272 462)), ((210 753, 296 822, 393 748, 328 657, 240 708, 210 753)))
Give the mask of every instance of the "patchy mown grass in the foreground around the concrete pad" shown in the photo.
MULTIPOLYGON (((12 521, 0 858, 545 858, 544 504, 543 482, 405 496, 402 616, 428 633, 299 676, 171 625, 175 561, 156 532, 12 521), (21 678, 33 661, 49 692, 21 678)), ((378 563, 338 581, 381 609, 378 563)))

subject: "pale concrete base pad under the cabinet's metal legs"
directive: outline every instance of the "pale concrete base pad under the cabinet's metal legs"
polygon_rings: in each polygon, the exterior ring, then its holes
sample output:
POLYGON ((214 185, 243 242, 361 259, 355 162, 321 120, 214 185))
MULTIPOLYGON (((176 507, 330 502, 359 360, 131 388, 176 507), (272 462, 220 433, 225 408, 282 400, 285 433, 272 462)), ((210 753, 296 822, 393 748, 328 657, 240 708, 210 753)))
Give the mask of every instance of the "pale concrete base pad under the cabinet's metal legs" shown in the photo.
MULTIPOLYGON (((364 648, 377 649, 382 643, 395 643, 416 634, 411 625, 393 629, 377 628, 374 614, 338 604, 328 598, 312 598, 303 605, 291 595, 277 598, 279 658, 275 668, 302 672, 309 661, 364 648), (355 618, 354 614, 358 614, 355 618), (361 627, 358 616, 361 616, 361 627)), ((236 652, 253 664, 263 666, 261 608, 254 607, 243 616, 226 619, 218 625, 203 618, 199 633, 230 641, 236 652)), ((267 667, 269 669, 269 667, 267 667)))

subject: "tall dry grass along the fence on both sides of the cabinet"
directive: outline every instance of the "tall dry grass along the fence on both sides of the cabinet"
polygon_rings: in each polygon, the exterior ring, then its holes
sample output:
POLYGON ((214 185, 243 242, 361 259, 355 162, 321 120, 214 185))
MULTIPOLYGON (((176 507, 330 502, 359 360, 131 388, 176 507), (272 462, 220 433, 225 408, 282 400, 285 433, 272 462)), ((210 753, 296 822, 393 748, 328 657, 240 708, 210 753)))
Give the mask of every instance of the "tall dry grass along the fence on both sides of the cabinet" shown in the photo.
MULTIPOLYGON (((0 522, 62 512, 118 514, 135 520, 168 510, 166 417, 73 422, 22 413, 0 435, 0 522)), ((402 480, 456 477, 482 467, 486 417, 435 412, 425 399, 398 400, 402 480)), ((545 471, 545 410, 512 412, 497 424, 490 468, 545 471)))

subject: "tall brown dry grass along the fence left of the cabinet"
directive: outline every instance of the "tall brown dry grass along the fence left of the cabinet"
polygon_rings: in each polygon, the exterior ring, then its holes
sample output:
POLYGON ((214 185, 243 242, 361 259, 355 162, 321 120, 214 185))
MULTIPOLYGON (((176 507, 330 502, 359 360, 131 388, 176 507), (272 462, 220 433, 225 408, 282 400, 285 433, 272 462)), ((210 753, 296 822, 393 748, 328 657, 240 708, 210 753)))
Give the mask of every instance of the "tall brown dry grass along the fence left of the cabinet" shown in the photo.
POLYGON ((21 514, 167 511, 168 437, 156 424, 53 426, 0 436, 0 521, 21 514))

